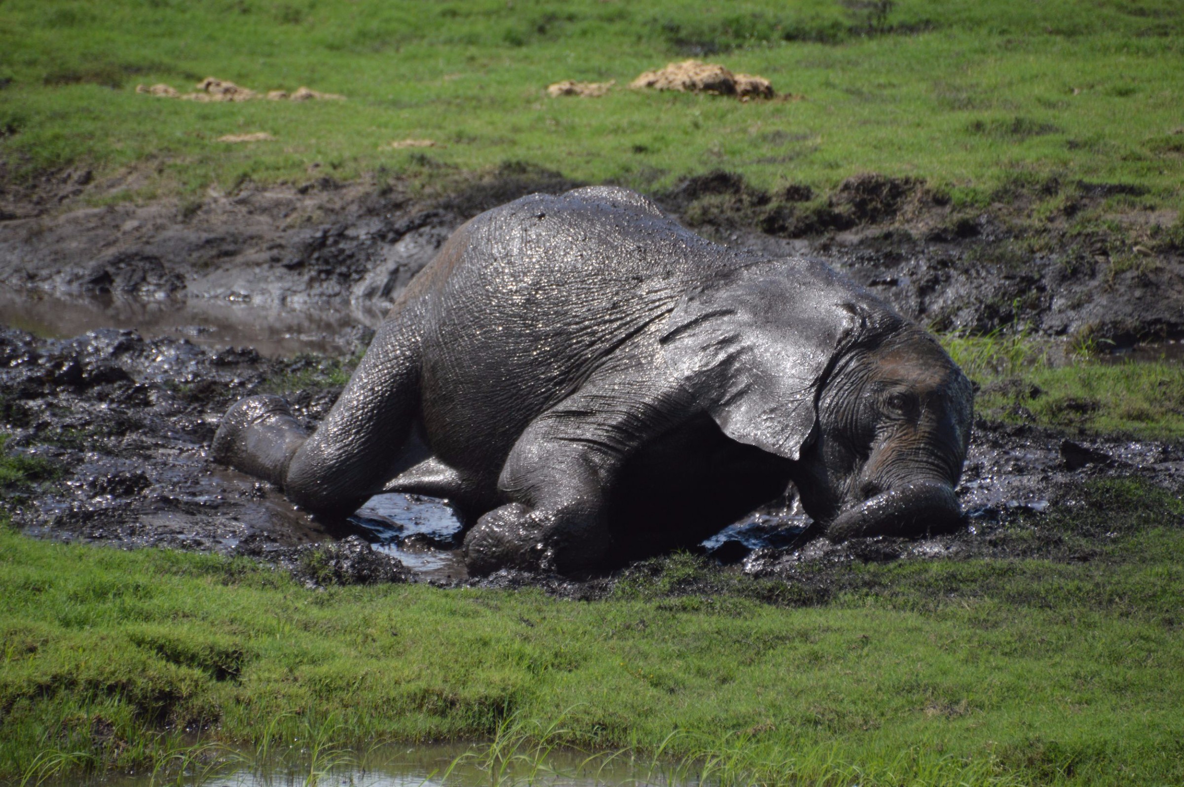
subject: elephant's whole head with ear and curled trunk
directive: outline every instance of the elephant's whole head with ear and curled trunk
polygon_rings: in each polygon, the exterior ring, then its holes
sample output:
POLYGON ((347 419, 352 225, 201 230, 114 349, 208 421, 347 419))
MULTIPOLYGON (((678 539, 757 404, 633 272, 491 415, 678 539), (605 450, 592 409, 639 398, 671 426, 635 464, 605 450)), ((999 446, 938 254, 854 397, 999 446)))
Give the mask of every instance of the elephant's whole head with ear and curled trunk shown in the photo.
POLYGON ((960 520, 970 381, 932 336, 822 263, 755 264, 707 283, 661 342, 725 434, 792 460, 829 537, 960 520))

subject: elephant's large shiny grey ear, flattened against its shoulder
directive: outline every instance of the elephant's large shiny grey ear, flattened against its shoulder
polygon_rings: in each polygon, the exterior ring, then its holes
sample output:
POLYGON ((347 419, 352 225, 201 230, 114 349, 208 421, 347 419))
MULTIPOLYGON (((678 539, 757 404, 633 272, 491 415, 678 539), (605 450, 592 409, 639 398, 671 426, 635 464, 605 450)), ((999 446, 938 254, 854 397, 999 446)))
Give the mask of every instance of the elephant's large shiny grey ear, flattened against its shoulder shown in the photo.
POLYGON ((668 366, 725 434, 796 460, 812 437, 830 372, 886 318, 900 323, 822 263, 779 260, 688 291, 659 342, 668 366))

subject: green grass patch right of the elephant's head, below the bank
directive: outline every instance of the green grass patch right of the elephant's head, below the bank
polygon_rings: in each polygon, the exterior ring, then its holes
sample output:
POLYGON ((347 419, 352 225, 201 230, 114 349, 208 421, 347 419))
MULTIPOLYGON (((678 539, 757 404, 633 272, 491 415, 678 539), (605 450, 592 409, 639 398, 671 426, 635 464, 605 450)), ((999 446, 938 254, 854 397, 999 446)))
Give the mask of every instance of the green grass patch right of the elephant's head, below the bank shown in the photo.
POLYGON ((1115 363, 1086 351, 1062 362, 1019 331, 946 336, 946 349, 979 385, 974 409, 1006 422, 1069 432, 1184 439, 1184 363, 1115 363))

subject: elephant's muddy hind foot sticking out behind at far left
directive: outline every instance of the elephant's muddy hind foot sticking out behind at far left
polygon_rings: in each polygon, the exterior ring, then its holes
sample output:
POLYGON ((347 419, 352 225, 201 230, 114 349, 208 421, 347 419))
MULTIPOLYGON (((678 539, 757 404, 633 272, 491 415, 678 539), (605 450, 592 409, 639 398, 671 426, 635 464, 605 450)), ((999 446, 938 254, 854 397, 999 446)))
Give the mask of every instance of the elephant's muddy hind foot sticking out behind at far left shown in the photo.
POLYGON ((308 432, 281 396, 247 396, 226 411, 211 456, 214 462, 283 486, 288 465, 307 438, 308 432))

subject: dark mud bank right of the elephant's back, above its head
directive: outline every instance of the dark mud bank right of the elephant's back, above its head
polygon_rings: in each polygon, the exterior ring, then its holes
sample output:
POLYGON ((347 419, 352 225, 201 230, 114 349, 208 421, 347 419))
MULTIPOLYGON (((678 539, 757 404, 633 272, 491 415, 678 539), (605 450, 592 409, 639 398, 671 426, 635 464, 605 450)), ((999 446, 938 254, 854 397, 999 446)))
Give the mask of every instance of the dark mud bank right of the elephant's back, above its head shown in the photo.
POLYGON ((1111 234, 1072 224, 1121 186, 1075 183, 1064 213, 1038 224, 1029 214, 1038 194, 1000 194, 1008 204, 966 212, 922 181, 874 174, 823 199, 718 172, 662 199, 716 240, 821 257, 935 330, 1022 327, 1124 350, 1184 337, 1184 250, 1152 240, 1175 215, 1133 212, 1111 234))

